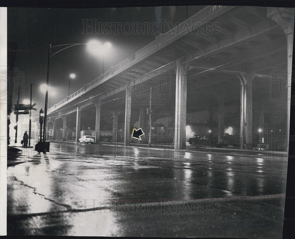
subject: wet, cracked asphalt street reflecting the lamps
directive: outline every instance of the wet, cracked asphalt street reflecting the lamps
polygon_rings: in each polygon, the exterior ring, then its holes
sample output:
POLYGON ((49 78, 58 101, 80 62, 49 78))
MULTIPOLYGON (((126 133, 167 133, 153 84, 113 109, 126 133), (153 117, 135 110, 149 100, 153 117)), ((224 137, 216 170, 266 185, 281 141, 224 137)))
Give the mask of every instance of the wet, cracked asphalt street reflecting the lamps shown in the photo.
POLYGON ((25 162, 7 168, 7 235, 281 238, 287 159, 63 142, 22 150, 25 162))

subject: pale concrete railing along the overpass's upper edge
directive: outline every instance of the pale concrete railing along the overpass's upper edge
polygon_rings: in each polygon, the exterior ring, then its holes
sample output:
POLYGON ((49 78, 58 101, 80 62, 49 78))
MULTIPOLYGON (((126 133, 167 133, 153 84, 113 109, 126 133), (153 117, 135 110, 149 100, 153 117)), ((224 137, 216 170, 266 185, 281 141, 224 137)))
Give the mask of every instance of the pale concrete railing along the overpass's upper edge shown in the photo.
POLYGON ((143 58, 146 54, 151 53, 152 51, 156 50, 159 46, 171 41, 173 38, 175 38, 177 35, 179 35, 181 32, 183 32, 183 29, 186 27, 189 27, 191 29, 195 23, 202 22, 203 19, 207 18, 212 13, 215 13, 219 11, 222 8, 225 8, 226 6, 220 6, 220 5, 214 5, 214 6, 206 6, 201 11, 197 12, 193 16, 189 17, 182 23, 178 24, 171 30, 167 31, 164 34, 159 34, 156 36, 156 39, 151 42, 150 44, 146 45, 145 47, 141 48, 135 54, 133 54, 131 57, 128 57, 127 59, 124 59, 119 64, 110 67, 110 69, 103 74, 101 74, 99 77, 91 81, 90 83, 84 85, 81 89, 78 89, 73 94, 69 95, 59 103, 55 104, 53 107, 48 109, 48 114, 52 113, 56 108, 61 106, 62 104, 67 103, 68 101, 71 101, 73 98, 77 98, 80 94, 82 94, 85 91, 88 91, 89 88, 96 87, 101 81, 103 81, 105 78, 109 77, 109 75, 112 75, 116 72, 119 72, 122 68, 124 68, 126 65, 136 62, 138 59, 143 58))

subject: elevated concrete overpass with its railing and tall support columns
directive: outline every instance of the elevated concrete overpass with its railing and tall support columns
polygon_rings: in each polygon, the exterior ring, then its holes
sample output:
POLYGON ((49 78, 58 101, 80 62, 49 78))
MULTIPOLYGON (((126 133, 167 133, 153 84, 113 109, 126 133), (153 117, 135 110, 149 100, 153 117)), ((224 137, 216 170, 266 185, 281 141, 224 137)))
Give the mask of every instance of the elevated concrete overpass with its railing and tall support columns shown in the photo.
POLYGON ((99 142, 101 107, 104 118, 113 115, 113 128, 118 113, 124 112, 128 145, 131 118, 135 115, 140 125, 147 121, 152 87, 153 122, 171 118, 175 149, 185 148, 188 114, 204 110, 209 111, 210 125, 218 112, 217 135, 222 142, 224 107, 235 105, 241 149, 252 147, 253 124, 264 127, 263 134, 272 141, 270 132, 276 124, 284 124, 287 136, 280 139, 287 142, 293 35, 294 9, 206 6, 48 109, 47 122, 53 123, 55 135, 56 120, 63 118, 65 140, 67 116, 76 112, 77 141, 81 112, 96 107, 99 142), (261 99, 267 107, 257 107, 261 99))

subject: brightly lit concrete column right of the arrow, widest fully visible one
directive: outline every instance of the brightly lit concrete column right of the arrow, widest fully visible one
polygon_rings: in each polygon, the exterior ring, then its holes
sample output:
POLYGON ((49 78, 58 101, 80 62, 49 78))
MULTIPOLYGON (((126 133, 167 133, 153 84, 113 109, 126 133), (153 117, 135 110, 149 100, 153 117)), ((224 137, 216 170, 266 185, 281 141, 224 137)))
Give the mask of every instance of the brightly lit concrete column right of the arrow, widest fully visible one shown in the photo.
POLYGON ((174 149, 186 147, 186 74, 188 65, 183 59, 176 60, 176 94, 175 94, 175 134, 174 149))

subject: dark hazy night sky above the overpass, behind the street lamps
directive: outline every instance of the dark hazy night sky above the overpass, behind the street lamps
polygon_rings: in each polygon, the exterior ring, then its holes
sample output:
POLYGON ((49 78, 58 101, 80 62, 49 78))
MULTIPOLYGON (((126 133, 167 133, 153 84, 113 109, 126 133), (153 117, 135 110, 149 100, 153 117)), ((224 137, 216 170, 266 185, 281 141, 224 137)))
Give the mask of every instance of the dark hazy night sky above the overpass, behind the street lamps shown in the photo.
MULTIPOLYGON (((188 16, 195 14, 204 6, 189 6, 188 16)), ((49 8, 8 8, 8 42, 17 43, 15 68, 24 73, 24 99, 30 99, 30 83, 46 83, 47 48, 70 43, 87 43, 90 39, 108 41, 112 44, 110 53, 104 59, 104 71, 130 57, 137 50, 155 39, 156 34, 82 34, 82 19, 97 19, 97 22, 158 22, 166 19, 173 26, 186 19, 186 6, 97 8, 97 9, 49 9, 49 8), (174 9, 173 9, 174 8, 174 9), (173 16, 174 11, 174 16, 173 16)), ((89 21, 89 24, 91 22, 89 21)), ((154 28, 156 30, 156 28, 154 28)), ((88 29, 88 32, 91 30, 88 29)), ((99 30, 96 30, 98 32, 99 30)), ((168 31, 168 25, 165 26, 168 31)), ((54 54, 63 47, 52 48, 54 54)), ((11 69, 10 69, 11 70, 11 69)), ((71 80, 70 94, 91 82, 102 72, 102 58, 94 57, 86 50, 86 45, 65 49, 50 58, 48 95, 50 106, 63 100, 68 95, 68 78, 71 80)), ((22 92, 21 92, 22 93, 22 92)), ((21 95, 21 99, 22 99, 21 95)), ((17 94, 14 94, 16 99, 17 94)), ((33 88, 32 102, 38 111, 44 109, 45 92, 40 87, 33 88)), ((48 105, 49 107, 49 105, 48 105)))

